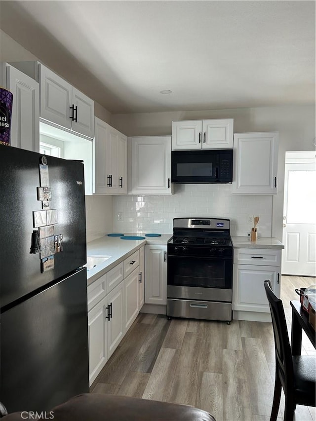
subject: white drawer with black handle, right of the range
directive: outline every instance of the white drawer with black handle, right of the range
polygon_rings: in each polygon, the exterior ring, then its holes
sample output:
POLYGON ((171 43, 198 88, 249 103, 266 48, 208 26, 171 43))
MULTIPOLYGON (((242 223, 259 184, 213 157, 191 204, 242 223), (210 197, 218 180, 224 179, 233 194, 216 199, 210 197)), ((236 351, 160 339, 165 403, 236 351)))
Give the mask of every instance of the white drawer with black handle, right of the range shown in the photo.
POLYGON ((281 266, 281 250, 235 249, 234 263, 242 265, 281 266))

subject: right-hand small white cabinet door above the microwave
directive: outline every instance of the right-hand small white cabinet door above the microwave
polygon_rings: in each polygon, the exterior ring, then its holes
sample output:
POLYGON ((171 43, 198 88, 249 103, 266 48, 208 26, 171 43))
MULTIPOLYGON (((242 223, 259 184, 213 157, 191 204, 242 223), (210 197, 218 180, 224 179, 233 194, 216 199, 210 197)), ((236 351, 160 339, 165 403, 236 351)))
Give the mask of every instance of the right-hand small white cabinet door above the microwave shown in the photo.
POLYGON ((202 120, 202 132, 202 149, 233 148, 233 118, 202 120))

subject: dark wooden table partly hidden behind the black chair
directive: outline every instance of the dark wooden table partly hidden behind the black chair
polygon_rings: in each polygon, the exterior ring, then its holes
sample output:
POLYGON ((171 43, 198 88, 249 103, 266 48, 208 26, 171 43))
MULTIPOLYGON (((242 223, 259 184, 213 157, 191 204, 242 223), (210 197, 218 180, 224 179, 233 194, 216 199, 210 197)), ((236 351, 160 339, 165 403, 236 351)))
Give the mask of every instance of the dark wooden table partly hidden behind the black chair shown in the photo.
POLYGON ((308 313, 303 310, 299 301, 290 301, 292 307, 292 333, 291 333, 291 351, 292 355, 301 355, 302 348, 302 330, 306 333, 309 340, 315 346, 315 330, 308 321, 308 313))

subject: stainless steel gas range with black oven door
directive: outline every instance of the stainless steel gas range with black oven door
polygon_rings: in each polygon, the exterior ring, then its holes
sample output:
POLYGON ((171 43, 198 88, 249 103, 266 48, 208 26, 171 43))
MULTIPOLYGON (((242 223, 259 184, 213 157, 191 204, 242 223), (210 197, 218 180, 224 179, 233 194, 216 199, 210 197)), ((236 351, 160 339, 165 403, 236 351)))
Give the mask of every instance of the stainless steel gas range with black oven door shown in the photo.
POLYGON ((167 316, 232 320, 230 220, 175 218, 167 244, 167 316))

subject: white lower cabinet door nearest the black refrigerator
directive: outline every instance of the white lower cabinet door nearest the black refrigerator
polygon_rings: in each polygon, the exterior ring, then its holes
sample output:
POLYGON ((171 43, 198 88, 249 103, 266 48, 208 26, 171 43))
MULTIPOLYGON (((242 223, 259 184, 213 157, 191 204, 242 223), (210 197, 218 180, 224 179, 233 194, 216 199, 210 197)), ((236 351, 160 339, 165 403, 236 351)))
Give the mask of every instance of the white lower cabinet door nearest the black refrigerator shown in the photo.
POLYGON ((107 362, 107 313, 107 297, 88 312, 90 385, 107 362))

